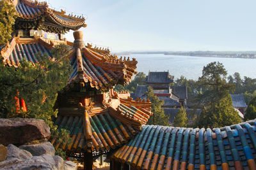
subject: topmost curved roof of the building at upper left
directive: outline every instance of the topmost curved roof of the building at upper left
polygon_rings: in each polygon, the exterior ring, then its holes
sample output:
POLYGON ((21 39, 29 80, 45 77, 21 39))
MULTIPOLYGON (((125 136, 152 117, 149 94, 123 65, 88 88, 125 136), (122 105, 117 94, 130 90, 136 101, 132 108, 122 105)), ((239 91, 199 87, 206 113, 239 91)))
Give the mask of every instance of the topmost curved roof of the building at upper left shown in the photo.
MULTIPOLYGON (((46 2, 38 2, 31 0, 13 0, 13 5, 18 13, 19 27, 22 27, 22 22, 31 22, 40 24, 35 25, 35 27, 41 27, 45 31, 56 32, 57 30, 68 31, 69 29, 78 30, 81 27, 86 27, 84 24, 84 17, 66 15, 65 11, 56 11, 49 8, 46 2), (43 18, 43 20, 42 20, 43 18), (43 26, 42 26, 43 25, 43 26), (55 27, 55 29, 52 29, 55 27)), ((24 29, 28 27, 25 25, 24 29)), ((60 32, 59 32, 60 33, 60 32)))

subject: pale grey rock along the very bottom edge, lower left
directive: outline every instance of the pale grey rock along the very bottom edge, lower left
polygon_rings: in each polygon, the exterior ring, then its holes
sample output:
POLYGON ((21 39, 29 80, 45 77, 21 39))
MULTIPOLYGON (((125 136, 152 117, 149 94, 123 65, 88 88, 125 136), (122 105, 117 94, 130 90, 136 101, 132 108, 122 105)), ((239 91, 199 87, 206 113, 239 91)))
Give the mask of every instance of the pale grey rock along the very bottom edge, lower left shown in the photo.
POLYGON ((42 155, 30 157, 18 164, 4 166, 1 169, 44 169, 44 170, 52 170, 58 169, 63 170, 64 161, 59 156, 51 156, 51 155, 42 155))

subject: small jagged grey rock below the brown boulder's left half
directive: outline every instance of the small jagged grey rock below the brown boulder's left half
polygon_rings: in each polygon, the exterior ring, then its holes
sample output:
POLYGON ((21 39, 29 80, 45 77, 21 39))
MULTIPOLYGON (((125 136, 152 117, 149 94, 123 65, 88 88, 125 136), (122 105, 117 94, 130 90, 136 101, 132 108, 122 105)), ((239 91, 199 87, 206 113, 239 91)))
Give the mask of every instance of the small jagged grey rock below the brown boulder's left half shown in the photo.
POLYGON ((17 158, 20 160, 26 160, 29 157, 32 157, 31 153, 26 150, 20 150, 18 147, 10 144, 7 146, 8 154, 7 159, 17 158))

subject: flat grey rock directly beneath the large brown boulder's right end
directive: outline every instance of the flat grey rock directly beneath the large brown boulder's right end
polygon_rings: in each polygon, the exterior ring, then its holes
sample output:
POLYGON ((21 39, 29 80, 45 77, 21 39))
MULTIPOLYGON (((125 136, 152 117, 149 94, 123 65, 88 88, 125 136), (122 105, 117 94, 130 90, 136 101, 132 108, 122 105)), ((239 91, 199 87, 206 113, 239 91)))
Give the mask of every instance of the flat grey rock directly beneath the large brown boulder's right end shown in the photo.
POLYGON ((55 150, 52 144, 48 141, 43 143, 38 143, 35 145, 21 145, 19 146, 22 150, 27 150, 33 156, 40 156, 40 155, 52 155, 54 156, 55 150))

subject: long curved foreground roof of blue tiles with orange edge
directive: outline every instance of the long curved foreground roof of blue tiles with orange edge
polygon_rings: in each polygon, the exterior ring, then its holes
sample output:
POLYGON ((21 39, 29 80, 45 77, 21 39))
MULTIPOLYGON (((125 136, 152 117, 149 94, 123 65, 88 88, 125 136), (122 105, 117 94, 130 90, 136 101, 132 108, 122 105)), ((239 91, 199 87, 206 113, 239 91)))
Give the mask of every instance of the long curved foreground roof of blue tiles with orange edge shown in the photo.
POLYGON ((137 169, 256 169, 256 120, 216 129, 145 125, 113 158, 137 169))

